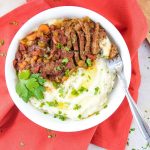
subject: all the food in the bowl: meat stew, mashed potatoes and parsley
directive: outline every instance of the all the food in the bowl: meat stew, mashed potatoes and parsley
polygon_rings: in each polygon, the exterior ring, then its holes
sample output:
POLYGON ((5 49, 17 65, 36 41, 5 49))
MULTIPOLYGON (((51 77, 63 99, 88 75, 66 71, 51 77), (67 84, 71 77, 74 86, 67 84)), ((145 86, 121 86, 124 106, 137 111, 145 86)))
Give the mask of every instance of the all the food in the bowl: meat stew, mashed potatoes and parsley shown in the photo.
POLYGON ((19 42, 16 92, 63 121, 97 115, 107 107, 116 77, 106 59, 117 55, 105 30, 88 17, 41 24, 19 42))

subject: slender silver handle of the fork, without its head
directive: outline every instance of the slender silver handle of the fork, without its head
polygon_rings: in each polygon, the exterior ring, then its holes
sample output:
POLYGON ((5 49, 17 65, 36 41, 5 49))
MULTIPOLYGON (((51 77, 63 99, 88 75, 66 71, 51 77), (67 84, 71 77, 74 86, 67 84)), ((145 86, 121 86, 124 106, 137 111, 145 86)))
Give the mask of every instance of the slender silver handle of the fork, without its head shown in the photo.
POLYGON ((133 118, 135 119, 143 137, 147 140, 147 142, 150 142, 150 127, 146 123, 144 118, 142 117, 141 112, 137 107, 137 104, 135 103, 131 94, 129 93, 126 79, 125 79, 123 73, 118 73, 118 78, 123 83, 123 89, 125 91, 125 94, 126 94, 126 97, 127 97, 127 100, 128 100, 128 103, 129 103, 129 106, 130 106, 130 109, 131 109, 131 112, 133 115, 133 118))

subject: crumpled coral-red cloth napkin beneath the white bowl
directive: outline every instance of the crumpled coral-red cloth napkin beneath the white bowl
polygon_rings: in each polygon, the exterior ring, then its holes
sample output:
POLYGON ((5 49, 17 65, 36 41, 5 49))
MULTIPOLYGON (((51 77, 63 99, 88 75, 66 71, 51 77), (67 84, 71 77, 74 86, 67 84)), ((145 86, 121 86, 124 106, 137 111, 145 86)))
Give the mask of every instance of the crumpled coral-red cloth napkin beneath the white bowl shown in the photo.
MULTIPOLYGON (((137 99, 140 84, 137 49, 146 36, 147 25, 135 0, 30 0, 0 18, 0 40, 5 42, 0 52, 7 52, 13 36, 29 18, 42 10, 62 5, 94 10, 110 20, 120 31, 132 58, 129 89, 133 98, 137 99)), ((74 133, 49 131, 28 120, 14 106, 5 84, 4 65, 5 57, 0 56, 0 149, 86 150, 90 142, 109 150, 125 149, 132 119, 126 100, 111 117, 96 127, 74 133)))

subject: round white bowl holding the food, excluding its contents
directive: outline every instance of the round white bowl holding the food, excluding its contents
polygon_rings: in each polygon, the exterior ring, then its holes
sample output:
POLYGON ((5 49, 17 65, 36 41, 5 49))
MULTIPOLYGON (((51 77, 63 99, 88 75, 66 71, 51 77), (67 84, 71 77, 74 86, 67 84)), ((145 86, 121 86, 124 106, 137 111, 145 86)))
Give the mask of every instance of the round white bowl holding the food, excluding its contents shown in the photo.
POLYGON ((74 132, 91 128, 110 117, 116 111, 116 109, 119 107, 119 105, 125 97, 125 94, 121 88, 121 83, 118 81, 115 89, 112 91, 109 97, 108 107, 102 110, 99 115, 92 116, 81 121, 60 121, 58 119, 54 119, 50 115, 43 114, 39 110, 35 109, 31 104, 25 103, 17 95, 15 90, 17 76, 16 71, 13 67, 13 60, 15 58, 15 53, 18 48, 19 40, 25 37, 28 33, 30 33, 40 24, 47 22, 48 20, 64 17, 80 18, 84 16, 89 16, 95 22, 99 22, 101 26, 106 30, 109 37, 111 37, 111 39, 116 43, 123 59, 124 73, 127 83, 128 85, 130 83, 131 61, 129 51, 124 39, 112 23, 110 23, 106 18, 104 18, 100 14, 97 14, 96 12, 81 7, 63 6, 45 10, 28 20, 17 32, 8 49, 5 64, 6 83, 12 100, 27 118, 29 118, 30 120, 42 127, 64 132, 74 132))

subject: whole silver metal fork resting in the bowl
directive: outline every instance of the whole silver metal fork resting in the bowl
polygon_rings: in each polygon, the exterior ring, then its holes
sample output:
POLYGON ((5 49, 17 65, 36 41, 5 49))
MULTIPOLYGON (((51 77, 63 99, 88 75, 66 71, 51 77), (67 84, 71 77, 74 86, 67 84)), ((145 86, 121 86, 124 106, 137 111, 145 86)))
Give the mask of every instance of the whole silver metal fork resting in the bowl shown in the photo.
POLYGON ((121 59, 121 56, 118 55, 114 59, 108 60, 107 66, 110 69, 110 71, 115 72, 117 74, 117 77, 122 82, 122 88, 127 97, 133 118, 135 119, 143 137, 146 139, 147 142, 150 142, 150 127, 144 120, 140 110, 137 107, 137 104, 135 103, 135 101, 129 93, 127 82, 123 73, 123 61, 121 59))

